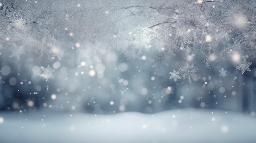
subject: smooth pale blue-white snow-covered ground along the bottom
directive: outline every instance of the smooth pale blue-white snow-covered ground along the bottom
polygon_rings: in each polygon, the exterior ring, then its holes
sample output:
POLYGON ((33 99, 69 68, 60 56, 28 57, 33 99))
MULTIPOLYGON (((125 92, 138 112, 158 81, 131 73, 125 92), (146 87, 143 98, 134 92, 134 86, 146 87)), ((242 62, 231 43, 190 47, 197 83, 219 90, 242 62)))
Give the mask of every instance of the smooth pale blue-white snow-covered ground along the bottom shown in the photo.
POLYGON ((0 112, 0 117, 0 143, 256 143, 255 117, 221 110, 0 112))

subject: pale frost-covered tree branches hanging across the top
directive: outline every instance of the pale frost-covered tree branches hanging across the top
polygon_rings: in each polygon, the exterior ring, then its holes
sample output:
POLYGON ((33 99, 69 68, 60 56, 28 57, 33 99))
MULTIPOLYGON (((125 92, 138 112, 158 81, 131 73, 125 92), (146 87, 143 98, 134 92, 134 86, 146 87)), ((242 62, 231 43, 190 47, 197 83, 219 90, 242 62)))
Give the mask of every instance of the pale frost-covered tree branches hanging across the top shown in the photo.
POLYGON ((11 49, 16 57, 34 52, 61 59, 74 47, 110 48, 127 57, 167 49, 168 56, 184 51, 185 59, 209 60, 215 55, 210 61, 221 61, 235 52, 253 59, 254 4, 252 0, 3 1, 0 43, 2 52, 11 49))

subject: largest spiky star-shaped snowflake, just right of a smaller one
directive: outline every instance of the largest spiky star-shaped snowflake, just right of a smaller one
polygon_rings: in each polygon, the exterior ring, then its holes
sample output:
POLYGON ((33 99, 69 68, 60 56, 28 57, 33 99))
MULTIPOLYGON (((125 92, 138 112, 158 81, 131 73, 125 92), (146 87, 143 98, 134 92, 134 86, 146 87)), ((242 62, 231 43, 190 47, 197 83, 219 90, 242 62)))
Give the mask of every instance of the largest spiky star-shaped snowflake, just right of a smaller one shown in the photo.
POLYGON ((196 74, 198 73, 198 67, 195 66, 195 63, 193 62, 184 62, 184 66, 180 66, 178 72, 181 73, 183 79, 188 79, 190 84, 192 83, 192 79, 199 79, 197 77, 198 74, 196 74))

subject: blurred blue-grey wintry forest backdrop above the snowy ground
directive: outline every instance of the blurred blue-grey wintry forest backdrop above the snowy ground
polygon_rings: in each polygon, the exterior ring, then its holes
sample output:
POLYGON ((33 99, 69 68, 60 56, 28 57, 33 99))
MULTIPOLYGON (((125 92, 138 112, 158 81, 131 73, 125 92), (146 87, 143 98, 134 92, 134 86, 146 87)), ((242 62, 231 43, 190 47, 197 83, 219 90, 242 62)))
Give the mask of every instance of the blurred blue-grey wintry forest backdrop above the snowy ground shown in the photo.
POLYGON ((2 0, 0 15, 0 110, 255 116, 254 0, 2 0))

